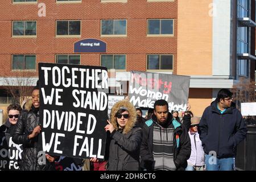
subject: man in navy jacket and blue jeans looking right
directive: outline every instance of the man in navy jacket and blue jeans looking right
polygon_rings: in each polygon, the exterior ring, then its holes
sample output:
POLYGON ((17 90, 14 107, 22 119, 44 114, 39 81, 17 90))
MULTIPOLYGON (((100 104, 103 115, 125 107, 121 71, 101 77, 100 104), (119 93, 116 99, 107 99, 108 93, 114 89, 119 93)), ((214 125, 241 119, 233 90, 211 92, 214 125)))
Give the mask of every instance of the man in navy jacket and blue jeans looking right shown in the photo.
POLYGON ((247 129, 232 95, 228 89, 221 89, 199 124, 208 171, 233 170, 236 146, 246 137, 247 129))

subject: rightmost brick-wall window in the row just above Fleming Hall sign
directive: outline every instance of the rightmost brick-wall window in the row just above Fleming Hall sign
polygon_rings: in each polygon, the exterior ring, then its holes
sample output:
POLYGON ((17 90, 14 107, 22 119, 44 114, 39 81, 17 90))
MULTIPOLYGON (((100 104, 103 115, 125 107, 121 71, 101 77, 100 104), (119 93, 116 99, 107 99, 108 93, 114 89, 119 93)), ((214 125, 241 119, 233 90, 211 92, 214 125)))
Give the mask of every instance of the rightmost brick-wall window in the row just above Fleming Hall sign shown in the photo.
POLYGON ((147 35, 149 36, 173 36, 174 20, 173 19, 148 19, 147 35))

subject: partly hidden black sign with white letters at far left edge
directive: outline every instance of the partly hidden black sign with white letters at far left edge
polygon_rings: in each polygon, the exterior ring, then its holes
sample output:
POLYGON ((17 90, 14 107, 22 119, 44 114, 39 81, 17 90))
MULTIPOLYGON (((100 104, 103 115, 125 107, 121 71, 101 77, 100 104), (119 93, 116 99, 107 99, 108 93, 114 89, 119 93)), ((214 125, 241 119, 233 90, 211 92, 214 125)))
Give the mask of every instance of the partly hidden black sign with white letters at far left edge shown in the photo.
POLYGON ((19 170, 22 158, 22 144, 15 144, 10 134, 0 134, 0 170, 19 170))

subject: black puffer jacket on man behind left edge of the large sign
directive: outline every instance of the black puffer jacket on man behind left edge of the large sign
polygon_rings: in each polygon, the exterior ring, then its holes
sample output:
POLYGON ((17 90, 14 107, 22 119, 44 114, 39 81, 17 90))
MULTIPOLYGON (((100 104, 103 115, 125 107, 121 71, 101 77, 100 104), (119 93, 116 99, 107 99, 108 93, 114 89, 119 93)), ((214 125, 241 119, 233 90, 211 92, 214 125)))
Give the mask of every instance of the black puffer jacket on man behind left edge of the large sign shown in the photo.
MULTIPOLYGON (((23 111, 24 113, 24 111, 23 111)), ((22 171, 52 171, 55 170, 54 163, 38 164, 38 136, 28 139, 28 135, 32 133, 34 128, 39 125, 39 110, 32 107, 28 111, 26 121, 22 121, 20 115, 13 133, 13 142, 23 144, 22 160, 20 162, 20 170, 22 171)), ((45 155, 43 155, 45 157, 45 155)))

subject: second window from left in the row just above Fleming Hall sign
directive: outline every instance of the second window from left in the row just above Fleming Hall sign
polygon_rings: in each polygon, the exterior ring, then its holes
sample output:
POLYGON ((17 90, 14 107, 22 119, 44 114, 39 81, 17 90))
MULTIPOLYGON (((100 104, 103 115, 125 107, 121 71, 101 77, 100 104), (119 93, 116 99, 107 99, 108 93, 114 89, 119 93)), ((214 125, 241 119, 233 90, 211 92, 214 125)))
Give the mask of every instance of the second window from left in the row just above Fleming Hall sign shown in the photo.
POLYGON ((80 37, 81 36, 81 20, 56 21, 56 36, 80 37))

